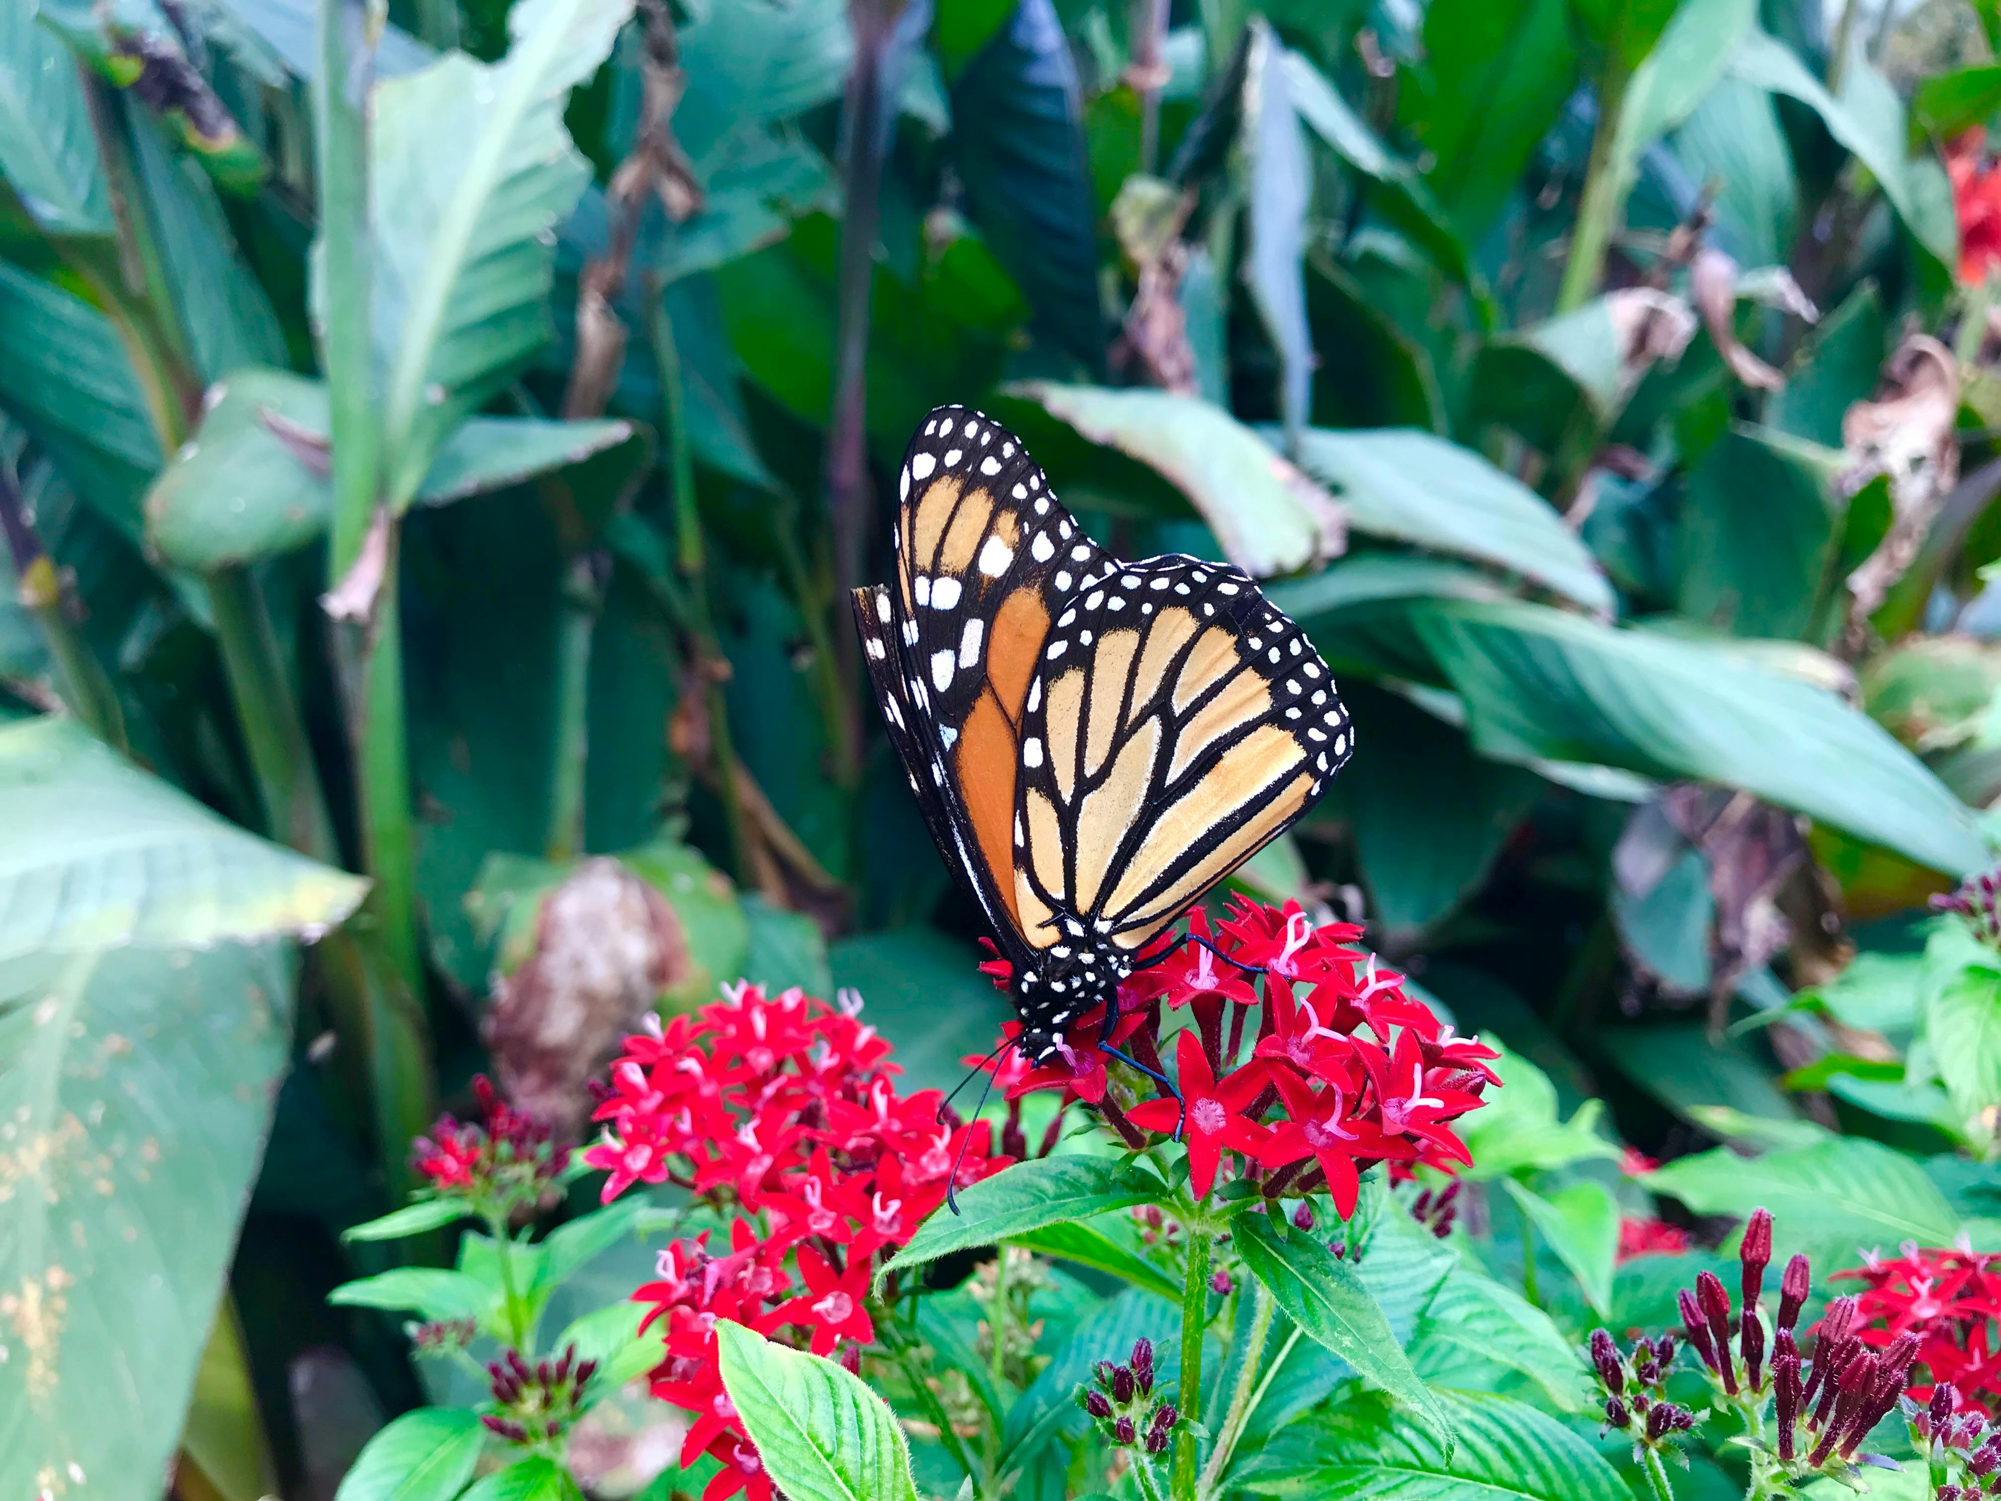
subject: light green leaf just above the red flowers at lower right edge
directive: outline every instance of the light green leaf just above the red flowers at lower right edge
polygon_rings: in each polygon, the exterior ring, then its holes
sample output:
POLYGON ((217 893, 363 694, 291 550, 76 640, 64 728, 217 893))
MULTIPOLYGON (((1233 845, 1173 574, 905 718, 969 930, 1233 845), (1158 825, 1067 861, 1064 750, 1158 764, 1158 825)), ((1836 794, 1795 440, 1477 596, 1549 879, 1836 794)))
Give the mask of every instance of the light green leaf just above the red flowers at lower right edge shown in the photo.
POLYGON ((1727 1147, 1679 1157, 1645 1185, 1681 1199, 1697 1215, 1745 1219, 1763 1205, 1773 1217, 1773 1255, 1813 1255, 1815 1267, 1853 1267, 1861 1247, 1951 1245, 1957 1217, 1925 1171, 1903 1153, 1863 1137, 1743 1159, 1727 1147))

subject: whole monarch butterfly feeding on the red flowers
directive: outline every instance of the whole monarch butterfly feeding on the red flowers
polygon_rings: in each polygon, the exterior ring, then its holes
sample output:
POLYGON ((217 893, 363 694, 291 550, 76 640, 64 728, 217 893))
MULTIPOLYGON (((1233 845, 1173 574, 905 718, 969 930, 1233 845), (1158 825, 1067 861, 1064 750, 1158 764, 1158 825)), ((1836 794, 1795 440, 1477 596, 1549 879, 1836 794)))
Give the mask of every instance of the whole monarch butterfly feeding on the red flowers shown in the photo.
POLYGON ((1111 556, 984 412, 932 410, 896 494, 896 580, 856 588, 854 622, 924 823, 1013 965, 1017 1047, 1043 1063, 1313 805, 1355 730, 1249 574, 1111 556))

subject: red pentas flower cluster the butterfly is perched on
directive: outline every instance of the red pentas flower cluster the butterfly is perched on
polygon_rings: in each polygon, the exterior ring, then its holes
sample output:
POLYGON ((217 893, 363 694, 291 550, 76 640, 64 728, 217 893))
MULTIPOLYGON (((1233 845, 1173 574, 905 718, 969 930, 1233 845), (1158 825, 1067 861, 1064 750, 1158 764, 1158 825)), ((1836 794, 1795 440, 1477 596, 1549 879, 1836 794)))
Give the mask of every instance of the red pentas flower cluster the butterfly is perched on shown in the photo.
MULTIPOLYGON (((1237 897, 1213 931, 1195 909, 1189 935, 1197 943, 1125 981, 1115 1037, 1099 1035, 1101 1017, 1073 1029, 1049 1067, 1031 1069, 1013 1053, 966 1063, 990 1067, 1011 1101, 1061 1089, 1067 1101, 1095 1105, 1135 1151, 1149 1133, 1179 1127, 1197 1197, 1215 1187, 1229 1159, 1233 1173, 1255 1177, 1273 1199, 1325 1189, 1347 1219, 1359 1175, 1375 1163, 1451 1173, 1471 1161, 1453 1121, 1499 1085, 1489 1067, 1497 1055, 1453 1037, 1403 989, 1401 975, 1355 949, 1359 927, 1315 927, 1297 903, 1237 897), (1165 1075, 1163 1027, 1181 1009, 1189 1025, 1173 1037, 1173 1055, 1185 1101, 1163 1091, 1123 1103, 1111 1089, 1117 1061, 1103 1045, 1165 1075)), ((1143 963, 1161 953, 1155 947, 1143 963)), ((1005 961, 982 969, 996 983, 1009 979, 1005 961)))

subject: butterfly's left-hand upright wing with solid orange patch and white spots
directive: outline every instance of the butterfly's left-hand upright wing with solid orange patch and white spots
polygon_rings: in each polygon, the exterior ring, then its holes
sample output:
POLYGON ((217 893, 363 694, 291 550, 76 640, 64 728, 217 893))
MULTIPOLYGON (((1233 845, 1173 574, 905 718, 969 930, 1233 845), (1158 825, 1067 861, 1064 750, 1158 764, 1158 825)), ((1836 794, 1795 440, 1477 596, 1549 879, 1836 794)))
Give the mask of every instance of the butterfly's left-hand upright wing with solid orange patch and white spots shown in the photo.
POLYGON ((1015 913, 1013 825, 1029 678, 1051 620, 1107 558, 1021 440, 962 406, 910 440, 894 540, 894 584, 854 594, 870 682, 932 839, 1023 963, 1035 945, 1015 913))

